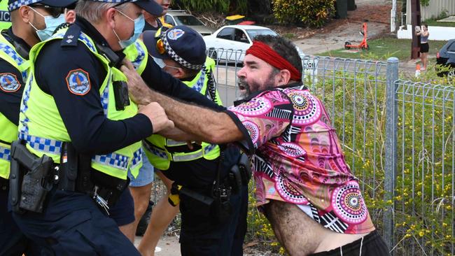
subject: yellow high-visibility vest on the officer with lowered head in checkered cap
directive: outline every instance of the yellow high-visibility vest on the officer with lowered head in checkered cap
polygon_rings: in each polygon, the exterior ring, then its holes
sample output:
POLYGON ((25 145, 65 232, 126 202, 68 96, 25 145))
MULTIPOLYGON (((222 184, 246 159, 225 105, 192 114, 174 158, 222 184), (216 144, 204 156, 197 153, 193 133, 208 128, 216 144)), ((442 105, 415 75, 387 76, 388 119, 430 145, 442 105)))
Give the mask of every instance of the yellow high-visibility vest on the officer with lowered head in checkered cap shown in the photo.
MULTIPOLYGON (((193 80, 186 81, 184 83, 197 92, 207 95, 207 85, 210 79, 209 75, 211 76, 211 72, 214 70, 214 67, 214 60, 207 57, 204 67, 200 73, 198 73, 193 80)), ((212 100, 218 105, 222 105, 218 92, 216 92, 215 99, 212 100)), ((218 145, 204 142, 202 143, 202 148, 200 150, 195 150, 193 152, 169 152, 167 148, 186 145, 186 141, 174 141, 158 134, 153 134, 152 136, 146 138, 143 145, 148 160, 151 164, 153 164, 153 166, 160 170, 169 169, 171 162, 187 162, 200 159, 202 157, 213 160, 220 155, 220 148, 218 148, 218 145)))

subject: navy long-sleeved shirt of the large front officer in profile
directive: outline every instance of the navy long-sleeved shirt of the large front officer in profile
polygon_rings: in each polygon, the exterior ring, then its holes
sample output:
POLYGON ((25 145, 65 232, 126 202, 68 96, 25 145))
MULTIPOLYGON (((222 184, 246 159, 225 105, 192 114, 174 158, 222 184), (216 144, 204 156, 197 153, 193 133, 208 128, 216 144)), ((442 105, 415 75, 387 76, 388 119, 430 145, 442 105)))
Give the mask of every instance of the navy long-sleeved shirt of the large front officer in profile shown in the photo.
MULTIPOLYGON (((104 47, 109 44, 92 24, 77 17, 75 24, 93 41, 104 47)), ((99 88, 106 78, 102 62, 83 43, 62 47, 61 41, 47 43, 35 62, 35 79, 43 92, 52 95, 71 142, 81 153, 104 154, 113 152, 142 138, 151 136, 153 127, 146 115, 137 114, 125 120, 109 120, 104 115, 99 88), (76 70, 88 74, 90 90, 83 95, 69 90, 66 79, 76 70)), ((123 52, 118 52, 125 57, 123 52)), ((149 58, 142 73, 144 81, 153 89, 185 101, 223 110, 212 101, 165 73, 149 58)))

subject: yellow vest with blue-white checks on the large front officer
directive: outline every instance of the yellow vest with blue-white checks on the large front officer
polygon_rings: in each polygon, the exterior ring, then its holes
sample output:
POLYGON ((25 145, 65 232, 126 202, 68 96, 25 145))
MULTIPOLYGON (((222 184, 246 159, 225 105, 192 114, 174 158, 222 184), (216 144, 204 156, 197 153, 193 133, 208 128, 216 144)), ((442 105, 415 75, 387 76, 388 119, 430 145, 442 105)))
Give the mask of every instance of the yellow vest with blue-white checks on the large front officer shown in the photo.
MULTIPOLYGON (((67 29, 62 29, 46 41, 38 43, 31 49, 30 61, 34 63, 43 46, 52 40, 62 40, 67 29)), ((94 47, 92 38, 80 33, 79 43, 84 43, 88 49, 102 62, 107 76, 99 88, 104 115, 110 120, 124 120, 137 114, 137 106, 130 104, 125 110, 117 111, 113 93, 114 81, 126 81, 126 76, 115 67, 109 66, 109 59, 104 57, 94 47)), ((139 64, 140 66, 140 64, 139 64)), ((62 142, 71 141, 66 127, 59 115, 57 106, 52 95, 43 92, 34 79, 35 66, 31 64, 30 78, 27 81, 23 95, 19 136, 27 141, 27 148, 38 157, 48 155, 54 162, 59 163, 62 152, 62 142)), ((62 81, 63 82, 63 81, 62 81)), ((88 127, 87 127, 88 128, 88 127)), ((142 166, 141 142, 133 143, 125 148, 116 150, 106 155, 92 157, 92 168, 110 176, 127 179, 127 171, 130 169, 134 177, 139 173, 142 166)))

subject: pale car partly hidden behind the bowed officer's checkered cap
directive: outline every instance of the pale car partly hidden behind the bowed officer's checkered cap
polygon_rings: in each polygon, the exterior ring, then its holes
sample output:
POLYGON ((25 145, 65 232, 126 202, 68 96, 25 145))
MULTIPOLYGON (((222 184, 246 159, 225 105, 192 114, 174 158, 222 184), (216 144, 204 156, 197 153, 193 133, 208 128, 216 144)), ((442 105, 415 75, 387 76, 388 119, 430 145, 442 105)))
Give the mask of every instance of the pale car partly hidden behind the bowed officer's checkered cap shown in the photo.
POLYGON ((204 22, 197 19, 197 17, 186 13, 185 10, 168 10, 165 15, 165 22, 172 24, 172 26, 185 25, 195 31, 199 32, 202 36, 208 36, 214 33, 215 29, 207 27, 204 22))

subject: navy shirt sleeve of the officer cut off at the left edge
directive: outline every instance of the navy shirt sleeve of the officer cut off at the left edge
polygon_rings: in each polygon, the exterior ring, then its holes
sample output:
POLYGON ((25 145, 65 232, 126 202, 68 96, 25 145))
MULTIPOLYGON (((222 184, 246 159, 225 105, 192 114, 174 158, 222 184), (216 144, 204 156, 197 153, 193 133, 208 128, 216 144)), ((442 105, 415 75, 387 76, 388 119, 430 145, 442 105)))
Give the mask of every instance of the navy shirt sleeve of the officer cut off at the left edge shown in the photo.
MULTIPOLYGON (((30 46, 25 43, 22 38, 15 36, 13 30, 9 28, 6 30, 6 40, 13 44, 13 41, 20 45, 23 49, 23 52, 19 52, 21 57, 24 59, 29 59, 30 46)), ((19 124, 19 112, 20 112, 20 99, 22 98, 22 92, 24 92, 25 81, 22 80, 22 74, 15 66, 11 65, 4 59, 0 59, 0 76, 3 74, 13 74, 17 78, 18 83, 20 84, 18 90, 14 92, 3 90, 3 87, 0 88, 0 113, 6 116, 8 120, 13 122, 15 125, 19 124)))

